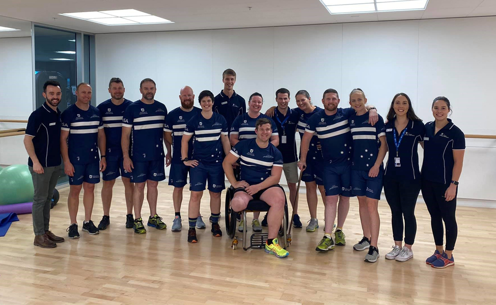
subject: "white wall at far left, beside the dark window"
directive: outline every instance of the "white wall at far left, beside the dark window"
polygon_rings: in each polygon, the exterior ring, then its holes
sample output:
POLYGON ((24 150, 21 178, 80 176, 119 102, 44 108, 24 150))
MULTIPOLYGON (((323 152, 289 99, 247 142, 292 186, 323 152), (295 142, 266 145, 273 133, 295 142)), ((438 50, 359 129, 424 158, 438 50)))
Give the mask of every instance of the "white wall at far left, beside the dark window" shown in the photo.
MULTIPOLYGON (((0 38, 0 119, 27 120, 33 111, 31 63, 31 37, 0 38)), ((25 123, 0 122, 0 130, 25 127, 25 123)), ((26 164, 23 138, 0 138, 0 164, 26 164)))

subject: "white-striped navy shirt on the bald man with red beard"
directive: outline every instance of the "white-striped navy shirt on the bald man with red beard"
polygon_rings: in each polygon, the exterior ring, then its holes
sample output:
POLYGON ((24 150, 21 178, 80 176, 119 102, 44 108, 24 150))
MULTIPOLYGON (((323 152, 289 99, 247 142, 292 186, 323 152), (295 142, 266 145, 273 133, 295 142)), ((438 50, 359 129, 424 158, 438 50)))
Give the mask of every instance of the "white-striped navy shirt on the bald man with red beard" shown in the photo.
MULTIPOLYGON (((166 125, 163 126, 163 131, 172 133, 172 162, 181 163, 181 140, 184 128, 186 128, 186 123, 189 122, 192 117, 201 112, 202 109, 198 107, 193 107, 188 112, 181 109, 181 107, 177 107, 167 115, 166 125)), ((192 157, 193 139, 194 137, 191 137, 188 144, 189 159, 192 157)))

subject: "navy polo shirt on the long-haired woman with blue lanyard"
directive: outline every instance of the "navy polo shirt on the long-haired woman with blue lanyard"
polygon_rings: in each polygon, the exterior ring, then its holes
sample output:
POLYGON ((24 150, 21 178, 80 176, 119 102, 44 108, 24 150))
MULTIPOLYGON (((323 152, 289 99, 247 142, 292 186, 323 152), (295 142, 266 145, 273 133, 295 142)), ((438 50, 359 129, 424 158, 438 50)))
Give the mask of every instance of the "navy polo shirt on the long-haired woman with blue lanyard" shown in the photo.
POLYGON ((400 166, 397 167, 394 161, 394 158, 396 158, 396 146, 394 144, 393 132, 396 133, 396 141, 399 141, 403 130, 398 133, 394 127, 394 120, 385 124, 389 155, 384 176, 398 180, 415 180, 420 178, 418 145, 424 141, 425 126, 422 121, 410 120, 405 129, 405 134, 398 147, 400 166))

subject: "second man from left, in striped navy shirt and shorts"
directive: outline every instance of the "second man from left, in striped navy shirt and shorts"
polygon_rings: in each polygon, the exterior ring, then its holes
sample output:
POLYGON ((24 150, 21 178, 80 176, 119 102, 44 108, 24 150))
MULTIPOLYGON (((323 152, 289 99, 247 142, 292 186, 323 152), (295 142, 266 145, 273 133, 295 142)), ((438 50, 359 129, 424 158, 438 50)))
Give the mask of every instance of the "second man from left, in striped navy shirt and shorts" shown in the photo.
POLYGON ((100 182, 100 172, 106 168, 106 140, 100 110, 90 105, 91 95, 90 85, 81 82, 76 88, 76 103, 69 106, 61 116, 60 150, 70 185, 67 202, 71 218, 69 238, 79 238, 76 217, 81 188, 85 190, 82 198, 85 206, 82 231, 91 235, 100 233, 91 220, 91 213, 95 201, 95 184, 100 182))

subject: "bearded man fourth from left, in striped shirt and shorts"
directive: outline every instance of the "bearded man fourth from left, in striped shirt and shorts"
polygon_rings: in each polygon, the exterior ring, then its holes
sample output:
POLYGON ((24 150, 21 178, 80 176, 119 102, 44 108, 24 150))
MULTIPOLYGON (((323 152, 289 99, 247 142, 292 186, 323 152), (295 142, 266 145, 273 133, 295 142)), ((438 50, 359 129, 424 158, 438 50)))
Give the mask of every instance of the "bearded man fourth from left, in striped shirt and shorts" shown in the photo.
POLYGON ((157 214, 158 182, 166 179, 164 160, 171 163, 171 145, 166 141, 167 156, 163 151, 163 126, 167 117, 167 108, 155 100, 157 92, 155 81, 145 78, 141 81, 141 100, 130 104, 122 119, 122 155, 124 170, 131 173, 134 183, 133 207, 134 223, 132 228, 136 234, 146 233, 141 218, 141 209, 147 186, 147 201, 150 217, 147 225, 157 230, 166 229, 162 217, 157 214), (130 136, 130 137, 129 137, 130 136))

